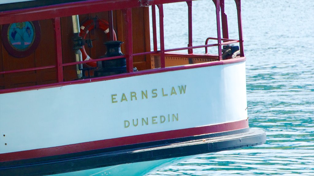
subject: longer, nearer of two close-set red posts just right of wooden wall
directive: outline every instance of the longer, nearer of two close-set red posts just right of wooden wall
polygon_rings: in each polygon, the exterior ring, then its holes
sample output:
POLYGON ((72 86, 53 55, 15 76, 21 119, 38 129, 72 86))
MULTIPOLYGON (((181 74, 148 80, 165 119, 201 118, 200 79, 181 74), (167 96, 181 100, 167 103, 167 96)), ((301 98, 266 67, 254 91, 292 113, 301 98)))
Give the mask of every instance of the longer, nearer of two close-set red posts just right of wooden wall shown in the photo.
POLYGON ((159 8, 160 65, 161 68, 165 68, 164 9, 162 4, 157 6, 159 8))

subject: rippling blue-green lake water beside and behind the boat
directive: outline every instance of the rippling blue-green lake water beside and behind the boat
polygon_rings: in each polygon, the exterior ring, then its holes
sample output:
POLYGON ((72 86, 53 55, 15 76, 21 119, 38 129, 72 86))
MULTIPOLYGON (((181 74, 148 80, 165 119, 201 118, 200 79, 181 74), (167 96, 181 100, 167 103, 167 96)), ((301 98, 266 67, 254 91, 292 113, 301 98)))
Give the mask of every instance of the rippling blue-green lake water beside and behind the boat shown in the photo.
MULTIPOLYGON (((187 46, 187 22, 177 23, 187 16, 186 4, 164 8, 165 48, 187 46), (173 40, 176 35, 182 37, 173 40)), ((217 36, 213 8, 209 0, 193 2, 194 45, 217 36)), ((226 9, 231 9, 226 10, 229 37, 237 39, 233 0, 226 0, 226 9)), ((314 175, 314 1, 242 0, 242 20, 249 123, 266 131, 267 142, 211 153, 149 176, 314 175)))

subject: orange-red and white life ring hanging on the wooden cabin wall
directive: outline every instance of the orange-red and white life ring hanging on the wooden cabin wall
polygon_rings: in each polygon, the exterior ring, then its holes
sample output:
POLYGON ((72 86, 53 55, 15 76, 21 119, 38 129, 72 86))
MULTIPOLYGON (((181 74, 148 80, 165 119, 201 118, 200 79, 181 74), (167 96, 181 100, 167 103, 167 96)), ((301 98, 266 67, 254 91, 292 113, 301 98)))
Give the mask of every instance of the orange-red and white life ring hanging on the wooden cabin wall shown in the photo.
MULTIPOLYGON (((91 31, 92 29, 100 28, 107 34, 107 38, 110 39, 110 33, 109 33, 109 23, 106 20, 94 18, 89 19, 85 21, 81 27, 80 27, 80 33, 79 36, 81 36, 83 39, 85 39, 86 35, 91 31)), ((117 40, 116 32, 113 30, 113 40, 117 40)), ((83 45, 83 48, 80 49, 82 52, 82 58, 83 60, 93 60, 93 58, 89 57, 89 55, 86 53, 85 47, 83 45)), ((91 67, 97 67, 96 62, 89 62, 86 63, 88 66, 91 67)))

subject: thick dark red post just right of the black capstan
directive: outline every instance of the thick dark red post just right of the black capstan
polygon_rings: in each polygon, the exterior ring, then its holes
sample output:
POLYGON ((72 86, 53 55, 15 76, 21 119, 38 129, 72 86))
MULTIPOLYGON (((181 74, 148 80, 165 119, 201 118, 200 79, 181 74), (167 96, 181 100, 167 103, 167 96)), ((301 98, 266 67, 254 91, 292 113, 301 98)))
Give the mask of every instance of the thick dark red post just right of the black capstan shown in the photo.
POLYGON ((123 9, 125 20, 125 44, 126 44, 126 59, 127 59, 127 73, 133 72, 133 40, 132 40, 132 9, 123 9))

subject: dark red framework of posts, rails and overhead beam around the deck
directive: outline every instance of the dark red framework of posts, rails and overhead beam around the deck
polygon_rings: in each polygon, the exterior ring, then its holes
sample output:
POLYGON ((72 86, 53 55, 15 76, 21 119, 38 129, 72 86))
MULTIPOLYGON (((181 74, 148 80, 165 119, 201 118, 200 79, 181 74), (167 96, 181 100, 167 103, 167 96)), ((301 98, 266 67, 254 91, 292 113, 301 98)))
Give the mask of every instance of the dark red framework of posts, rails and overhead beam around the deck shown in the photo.
MULTIPOLYGON (((235 0, 237 6, 237 14, 238 14, 238 27, 239 27, 239 40, 228 39, 228 26, 225 24, 227 22, 226 16, 224 14, 224 0, 213 0, 216 7, 216 22, 217 22, 217 38, 207 38, 205 41, 205 45, 193 46, 192 45, 192 0, 154 0, 154 1, 134 1, 134 0, 87 0, 76 3, 63 3, 57 5, 43 6, 37 8, 28 8, 28 9, 19 9, 12 11, 4 11, 0 13, 0 24, 6 23, 16 23, 20 21, 33 21, 33 20, 42 20, 42 19, 54 19, 54 28, 55 28, 55 42, 56 42, 56 65, 44 66, 44 67, 35 67, 29 69, 20 69, 20 70, 9 70, 2 71, 0 74, 8 74, 8 73, 17 73, 23 71, 30 70, 41 70, 48 68, 56 68, 57 71, 57 82, 61 85, 63 82, 63 67, 69 65, 77 65, 84 64, 95 61, 103 61, 103 60, 112 60, 119 58, 126 58, 127 60, 127 74, 133 72, 133 56, 146 55, 146 54, 156 54, 160 53, 160 63, 161 69, 165 68, 165 52, 170 51, 178 51, 178 50, 188 50, 188 54, 193 53, 193 49, 195 48, 205 48, 205 54, 207 54, 207 47, 218 46, 218 57, 219 61, 222 60, 222 52, 221 46, 226 44, 240 43, 240 51, 241 57, 244 56, 243 53, 243 39, 242 39, 242 22, 241 22, 241 0, 235 0), (164 25, 163 25, 163 4, 164 3, 174 3, 174 2, 186 2, 188 8, 188 46, 183 48, 175 48, 175 49, 165 49, 165 41, 164 41, 164 25), (151 5, 152 7, 152 26, 153 26, 153 51, 143 52, 143 53, 135 53, 133 54, 133 44, 132 44, 132 9, 134 7, 141 7, 151 5), (159 30, 160 30, 160 50, 157 50, 157 25, 156 25, 156 13, 155 13, 155 5, 159 10, 159 30), (66 9, 66 10, 65 10, 66 9), (86 60, 80 62, 71 62, 71 63, 62 63, 62 43, 61 43, 61 26, 60 26, 60 18, 70 15, 77 14, 86 14, 86 13, 96 13, 108 11, 109 13, 109 30, 113 30, 113 19, 112 19, 112 10, 122 9, 124 22, 125 22, 125 44, 126 44, 126 52, 124 56, 115 56, 115 57, 107 57, 100 58, 94 60, 86 60), (223 12, 222 23, 223 23, 223 35, 226 38, 221 38, 220 34, 220 18, 219 12, 220 9, 223 12), (216 44, 208 44, 208 40, 213 39, 217 40, 216 44), (221 42, 223 40, 223 42, 221 42)), ((110 34, 113 34, 110 32, 110 34)), ((157 69, 158 70, 158 69, 157 69)), ((158 72, 154 69, 155 72, 158 72)), ((125 75, 125 74, 123 74, 125 75)), ((127 76, 126 76, 127 77, 127 76)), ((79 80, 77 80, 79 81, 79 80)), ((71 81, 73 82, 73 81, 71 81)), ((49 85, 46 85, 49 86, 49 85)), ((34 86, 32 86, 34 87, 34 86)), ((32 87, 29 87, 32 89, 32 87)), ((12 89, 13 90, 13 89, 12 89)), ((18 90, 18 89, 14 89, 18 90)), ((8 90, 7 90, 8 91, 8 90)), ((6 90, 0 90, 0 93, 7 92, 6 90)))

